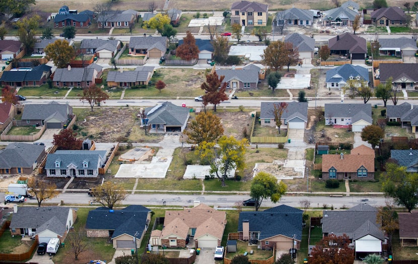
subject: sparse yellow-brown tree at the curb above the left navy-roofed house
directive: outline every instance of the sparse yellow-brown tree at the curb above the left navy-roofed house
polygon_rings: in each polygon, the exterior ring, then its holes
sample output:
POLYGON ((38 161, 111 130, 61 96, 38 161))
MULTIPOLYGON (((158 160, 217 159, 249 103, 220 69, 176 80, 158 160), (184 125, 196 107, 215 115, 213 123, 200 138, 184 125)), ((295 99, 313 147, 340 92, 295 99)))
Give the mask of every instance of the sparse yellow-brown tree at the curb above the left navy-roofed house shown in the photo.
POLYGON ((104 207, 113 209, 117 203, 126 198, 126 190, 122 185, 113 182, 104 182, 102 185, 92 188, 93 201, 104 207))

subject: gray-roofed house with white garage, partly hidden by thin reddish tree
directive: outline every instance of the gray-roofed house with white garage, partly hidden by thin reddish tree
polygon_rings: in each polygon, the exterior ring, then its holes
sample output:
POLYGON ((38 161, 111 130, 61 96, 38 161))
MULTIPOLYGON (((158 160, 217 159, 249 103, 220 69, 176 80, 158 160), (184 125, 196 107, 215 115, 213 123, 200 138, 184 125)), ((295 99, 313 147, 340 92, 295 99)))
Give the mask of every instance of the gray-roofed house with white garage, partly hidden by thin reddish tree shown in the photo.
MULTIPOLYGON (((261 126, 276 126, 274 119, 274 104, 280 102, 261 102, 261 126)), ((282 114, 282 126, 289 129, 305 129, 308 122, 307 102, 288 102, 282 114)))

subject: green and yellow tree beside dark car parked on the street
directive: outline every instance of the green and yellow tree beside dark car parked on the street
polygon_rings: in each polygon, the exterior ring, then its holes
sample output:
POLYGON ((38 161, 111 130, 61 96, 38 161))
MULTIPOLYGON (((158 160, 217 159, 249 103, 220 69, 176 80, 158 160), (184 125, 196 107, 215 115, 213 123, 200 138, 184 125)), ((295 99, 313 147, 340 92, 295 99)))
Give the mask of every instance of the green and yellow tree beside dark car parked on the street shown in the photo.
POLYGON ((255 199, 255 210, 258 211, 263 200, 270 198, 273 203, 278 202, 286 193, 287 185, 266 172, 259 172, 253 178, 250 187, 250 196, 255 199))

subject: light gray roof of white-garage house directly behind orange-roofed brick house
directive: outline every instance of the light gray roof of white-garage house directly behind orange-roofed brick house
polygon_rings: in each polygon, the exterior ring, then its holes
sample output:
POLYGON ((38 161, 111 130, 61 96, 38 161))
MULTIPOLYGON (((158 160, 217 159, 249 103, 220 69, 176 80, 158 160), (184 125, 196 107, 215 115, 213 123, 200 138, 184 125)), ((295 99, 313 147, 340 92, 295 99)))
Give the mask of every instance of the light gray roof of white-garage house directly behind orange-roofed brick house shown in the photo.
POLYGON ((352 123, 361 119, 370 124, 373 122, 370 103, 325 103, 324 116, 325 118, 352 118, 352 123), (353 118, 355 116, 356 120, 353 118))

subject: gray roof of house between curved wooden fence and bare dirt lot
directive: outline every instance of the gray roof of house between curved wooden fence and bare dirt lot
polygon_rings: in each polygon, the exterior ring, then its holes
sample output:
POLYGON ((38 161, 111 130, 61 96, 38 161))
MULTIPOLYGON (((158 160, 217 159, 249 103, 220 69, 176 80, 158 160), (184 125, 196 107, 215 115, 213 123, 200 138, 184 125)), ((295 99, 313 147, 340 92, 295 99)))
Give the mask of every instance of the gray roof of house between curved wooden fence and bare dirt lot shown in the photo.
POLYGON ((22 120, 45 120, 56 112, 67 117, 73 113, 73 108, 69 104, 56 101, 51 101, 47 104, 25 104, 22 120))

